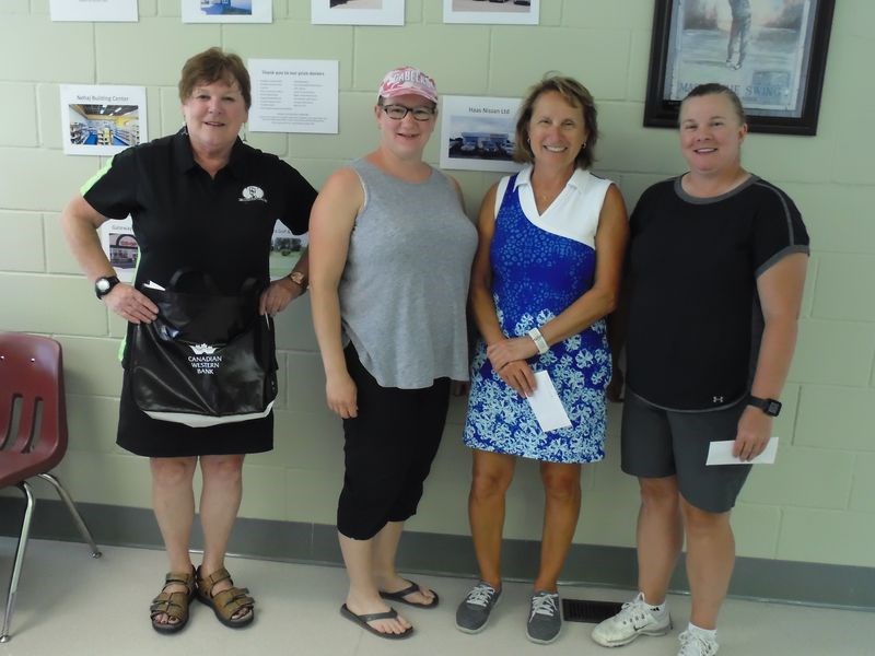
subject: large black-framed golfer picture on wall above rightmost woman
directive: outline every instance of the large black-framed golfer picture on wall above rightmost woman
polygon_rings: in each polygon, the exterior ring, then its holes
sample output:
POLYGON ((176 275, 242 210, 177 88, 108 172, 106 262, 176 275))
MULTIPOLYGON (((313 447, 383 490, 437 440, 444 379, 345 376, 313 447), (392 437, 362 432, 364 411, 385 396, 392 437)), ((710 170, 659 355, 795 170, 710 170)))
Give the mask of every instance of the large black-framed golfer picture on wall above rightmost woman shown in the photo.
POLYGON ((835 0, 656 0, 644 125, 675 127, 680 101, 719 82, 752 132, 817 133, 835 0))

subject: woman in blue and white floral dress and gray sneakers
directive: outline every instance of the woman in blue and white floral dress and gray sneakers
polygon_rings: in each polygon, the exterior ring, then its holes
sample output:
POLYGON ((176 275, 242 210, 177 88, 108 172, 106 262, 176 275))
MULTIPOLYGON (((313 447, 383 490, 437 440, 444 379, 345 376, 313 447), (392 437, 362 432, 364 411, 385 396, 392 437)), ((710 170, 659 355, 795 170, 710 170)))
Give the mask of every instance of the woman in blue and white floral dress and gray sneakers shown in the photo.
POLYGON ((556 640, 557 579, 580 514, 582 462, 604 457, 610 352, 604 317, 616 304, 628 239, 617 187, 587 168, 598 136, 590 92, 548 77, 523 102, 516 159, 528 165, 483 199, 471 306, 480 330, 465 444, 474 449, 468 503, 480 567, 456 626, 481 631, 501 595, 504 500, 517 457, 540 461, 541 558, 527 635, 556 640), (546 371, 571 425, 545 432, 527 401, 546 371))

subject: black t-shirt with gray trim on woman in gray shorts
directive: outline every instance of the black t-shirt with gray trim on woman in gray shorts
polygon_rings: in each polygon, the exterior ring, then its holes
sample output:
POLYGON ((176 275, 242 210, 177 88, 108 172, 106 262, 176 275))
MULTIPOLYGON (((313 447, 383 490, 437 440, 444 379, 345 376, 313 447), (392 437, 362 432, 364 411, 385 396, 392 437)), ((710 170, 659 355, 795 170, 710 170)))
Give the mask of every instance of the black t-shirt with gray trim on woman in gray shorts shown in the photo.
POLYGON ((673 410, 726 407, 748 391, 762 333, 757 277, 808 253, 796 206, 751 176, 714 198, 680 178, 641 196, 631 216, 628 385, 673 410))

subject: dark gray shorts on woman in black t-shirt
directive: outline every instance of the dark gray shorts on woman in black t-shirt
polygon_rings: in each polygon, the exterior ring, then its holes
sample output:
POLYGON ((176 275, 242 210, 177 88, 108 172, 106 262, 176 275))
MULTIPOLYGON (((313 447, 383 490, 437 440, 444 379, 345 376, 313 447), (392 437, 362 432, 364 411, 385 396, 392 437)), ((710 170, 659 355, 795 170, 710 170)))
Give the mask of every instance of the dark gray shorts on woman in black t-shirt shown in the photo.
POLYGON ((622 410, 622 470, 639 478, 677 477, 684 499, 709 513, 735 505, 750 465, 708 467, 711 442, 735 440, 745 403, 708 412, 651 406, 627 388, 622 410))

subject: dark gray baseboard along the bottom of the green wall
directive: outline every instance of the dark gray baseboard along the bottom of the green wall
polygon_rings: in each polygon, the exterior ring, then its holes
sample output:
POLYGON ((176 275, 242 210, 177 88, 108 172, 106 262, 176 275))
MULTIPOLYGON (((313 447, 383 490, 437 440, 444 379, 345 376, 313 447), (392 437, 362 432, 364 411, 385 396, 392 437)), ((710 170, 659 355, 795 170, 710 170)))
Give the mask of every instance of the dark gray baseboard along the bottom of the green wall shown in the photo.
MULTIPOLYGON (((161 534, 152 511, 105 504, 77 504, 100 544, 161 549, 161 534)), ((16 537, 24 502, 0 496, 0 535, 16 537)), ((67 508, 59 501, 39 500, 31 531, 37 539, 79 541, 67 508)), ((202 544, 196 523, 192 548, 202 544)), ((342 564, 337 529, 325 524, 273 522, 241 517, 229 551, 247 558, 300 563, 342 564)), ((532 581, 539 544, 533 540, 505 540, 502 569, 508 579, 532 581)), ((398 550, 398 567, 452 576, 477 576, 477 562, 468 536, 406 531, 398 550)), ((634 589, 635 551, 628 547, 573 544, 562 572, 568 583, 634 589)), ((684 566, 672 579, 674 591, 689 589, 684 566)), ((831 565, 756 558, 739 558, 730 595, 785 604, 804 604, 875 611, 875 567, 831 565)))

